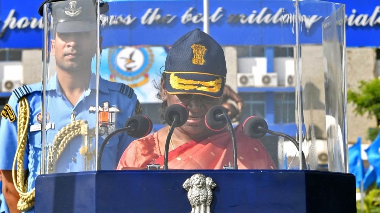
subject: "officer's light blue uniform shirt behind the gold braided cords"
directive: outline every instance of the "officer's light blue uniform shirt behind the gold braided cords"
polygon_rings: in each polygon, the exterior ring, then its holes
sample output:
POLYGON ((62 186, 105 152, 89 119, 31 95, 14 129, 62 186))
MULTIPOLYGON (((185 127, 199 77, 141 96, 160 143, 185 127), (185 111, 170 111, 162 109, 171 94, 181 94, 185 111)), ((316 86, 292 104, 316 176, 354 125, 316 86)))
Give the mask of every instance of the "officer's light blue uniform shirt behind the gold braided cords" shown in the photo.
MULTIPOLYGON (((29 86, 23 86, 13 91, 9 99, 9 106, 13 109, 17 118, 18 101, 22 96, 26 96, 30 106, 30 120, 28 128, 28 143, 25 150, 24 168, 29 170, 28 191, 35 187, 35 178, 40 174, 41 166, 41 131, 32 131, 31 127, 40 124, 41 112, 41 83, 29 86)), ((71 123, 71 114, 75 111, 75 120, 82 119, 88 121, 89 128, 95 128, 95 111, 90 111, 90 107, 95 107, 96 97, 96 76, 91 75, 89 89, 83 92, 77 104, 73 106, 68 99, 62 94, 56 75, 54 75, 46 86, 46 109, 49 114, 47 123, 54 128, 46 131, 46 143, 52 144, 54 136, 62 127, 71 123)), ((133 115, 138 106, 138 100, 133 89, 122 83, 116 83, 100 78, 99 83, 99 104, 108 102, 109 107, 115 107, 119 112, 116 113, 115 128, 122 128, 127 119, 133 115)), ((101 108, 101 106, 100 106, 101 108)), ((99 136, 98 147, 106 135, 99 136)), ((114 136, 106 145, 101 160, 103 170, 116 169, 119 159, 133 141, 126 133, 120 133, 114 136)), ((92 139, 94 144, 95 139, 92 139)), ((60 172, 77 172, 84 171, 84 156, 79 153, 83 145, 82 136, 79 135, 72 139, 63 150, 57 160, 55 173, 60 172)), ((93 145, 95 146, 95 145, 93 145)), ((93 147, 92 146, 92 147, 93 147)), ((2 118, 0 125, 0 169, 11 170, 14 154, 17 149, 17 119, 10 122, 9 118, 2 118)), ((94 153, 94 158, 95 153, 94 153)), ((95 160, 93 161, 95 162, 95 160)), ((91 165, 95 170, 95 165, 91 165)), ((28 212, 34 212, 34 208, 28 212)))

